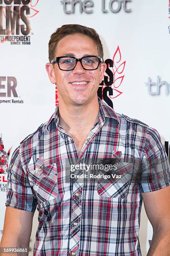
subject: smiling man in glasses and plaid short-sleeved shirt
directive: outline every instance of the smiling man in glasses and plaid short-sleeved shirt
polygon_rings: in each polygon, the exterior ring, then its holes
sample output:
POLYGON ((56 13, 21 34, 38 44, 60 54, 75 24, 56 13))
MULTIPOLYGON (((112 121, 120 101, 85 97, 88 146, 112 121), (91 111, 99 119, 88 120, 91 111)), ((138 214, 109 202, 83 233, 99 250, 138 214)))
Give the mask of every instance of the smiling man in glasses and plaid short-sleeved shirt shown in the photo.
POLYGON ((1 246, 29 246, 37 207, 36 256, 141 255, 144 201, 153 225, 148 256, 170 255, 167 156, 157 131, 97 98, 106 69, 99 36, 85 26, 64 25, 50 38, 49 60, 46 69, 57 84, 59 105, 13 153, 1 246), (66 160, 120 157, 142 160, 138 182, 66 182, 66 160))

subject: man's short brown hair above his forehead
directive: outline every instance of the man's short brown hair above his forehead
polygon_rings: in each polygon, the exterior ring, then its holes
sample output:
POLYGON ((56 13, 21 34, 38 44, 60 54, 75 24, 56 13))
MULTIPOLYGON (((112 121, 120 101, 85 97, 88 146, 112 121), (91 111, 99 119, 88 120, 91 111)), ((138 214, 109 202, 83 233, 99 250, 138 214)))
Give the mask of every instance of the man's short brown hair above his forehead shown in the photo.
POLYGON ((60 28, 57 28, 57 30, 54 33, 52 33, 50 37, 50 41, 48 43, 48 57, 50 62, 52 61, 52 59, 55 58, 55 49, 58 42, 65 36, 68 36, 71 34, 77 34, 77 33, 83 34, 85 36, 89 36, 90 38, 92 38, 92 40, 95 42, 97 46, 98 53, 103 59, 102 43, 95 29, 88 28, 79 24, 68 24, 68 25, 63 25, 60 28))

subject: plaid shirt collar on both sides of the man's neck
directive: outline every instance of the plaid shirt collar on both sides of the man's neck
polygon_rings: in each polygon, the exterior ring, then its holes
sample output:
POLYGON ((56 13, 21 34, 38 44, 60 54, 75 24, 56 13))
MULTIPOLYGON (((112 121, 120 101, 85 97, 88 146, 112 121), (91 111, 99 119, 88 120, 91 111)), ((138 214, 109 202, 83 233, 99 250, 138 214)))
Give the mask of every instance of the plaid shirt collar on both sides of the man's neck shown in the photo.
MULTIPOLYGON (((109 105, 104 103, 99 97, 98 97, 99 105, 100 105, 100 110, 99 110, 99 125, 102 127, 105 123, 105 118, 113 118, 117 121, 117 123, 120 123, 120 119, 118 115, 115 113, 115 110, 112 109, 109 105)), ((52 122, 52 120, 55 121, 56 127, 58 128, 59 126, 59 111, 58 111, 59 105, 55 108, 55 112, 52 114, 50 119, 47 122, 47 130, 48 126, 52 122)))

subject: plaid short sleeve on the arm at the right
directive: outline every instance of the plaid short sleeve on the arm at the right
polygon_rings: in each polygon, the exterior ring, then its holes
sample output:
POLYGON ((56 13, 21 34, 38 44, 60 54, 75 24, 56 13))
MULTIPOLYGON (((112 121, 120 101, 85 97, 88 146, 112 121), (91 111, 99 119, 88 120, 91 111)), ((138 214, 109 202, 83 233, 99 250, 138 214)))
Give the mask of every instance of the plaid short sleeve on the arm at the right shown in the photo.
POLYGON ((158 131, 149 127, 142 159, 140 191, 152 192, 169 185, 170 164, 165 147, 158 131))

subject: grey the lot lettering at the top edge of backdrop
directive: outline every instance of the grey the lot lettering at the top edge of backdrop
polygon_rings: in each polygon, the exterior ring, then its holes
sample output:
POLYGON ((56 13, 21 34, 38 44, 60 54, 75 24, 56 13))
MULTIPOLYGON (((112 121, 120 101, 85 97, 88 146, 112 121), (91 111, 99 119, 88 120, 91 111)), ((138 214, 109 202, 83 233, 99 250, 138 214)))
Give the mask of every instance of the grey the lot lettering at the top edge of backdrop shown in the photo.
MULTIPOLYGON (((93 13, 94 2, 92 0, 62 0, 65 13, 75 13, 75 5, 79 5, 80 13, 93 13)), ((97 1, 98 2, 98 1, 97 1)), ((126 13, 130 13, 132 9, 128 8, 131 0, 101 0, 101 9, 103 13, 118 13, 123 8, 126 13)))

